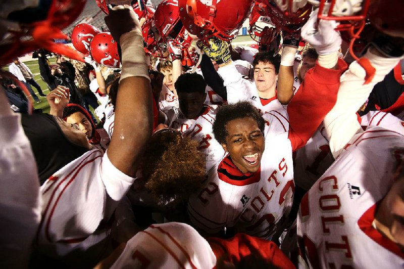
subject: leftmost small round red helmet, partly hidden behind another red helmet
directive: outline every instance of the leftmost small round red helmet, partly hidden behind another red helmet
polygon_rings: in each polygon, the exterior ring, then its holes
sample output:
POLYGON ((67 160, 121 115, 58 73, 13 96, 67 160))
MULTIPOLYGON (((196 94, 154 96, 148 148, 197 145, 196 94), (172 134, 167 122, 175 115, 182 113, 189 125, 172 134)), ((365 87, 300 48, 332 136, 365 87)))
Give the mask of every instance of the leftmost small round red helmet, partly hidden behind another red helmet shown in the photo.
POLYGON ((72 43, 73 47, 84 55, 90 54, 90 43, 92 38, 101 31, 88 23, 77 24, 73 28, 72 43))

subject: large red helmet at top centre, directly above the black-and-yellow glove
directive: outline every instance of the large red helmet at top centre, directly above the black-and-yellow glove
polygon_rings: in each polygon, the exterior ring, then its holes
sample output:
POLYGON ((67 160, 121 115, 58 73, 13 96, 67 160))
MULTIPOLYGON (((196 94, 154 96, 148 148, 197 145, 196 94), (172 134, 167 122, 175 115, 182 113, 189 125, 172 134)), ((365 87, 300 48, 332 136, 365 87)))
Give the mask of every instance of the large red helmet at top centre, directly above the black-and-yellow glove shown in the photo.
POLYGON ((232 40, 251 5, 252 0, 179 0, 182 23, 204 42, 212 36, 232 40))

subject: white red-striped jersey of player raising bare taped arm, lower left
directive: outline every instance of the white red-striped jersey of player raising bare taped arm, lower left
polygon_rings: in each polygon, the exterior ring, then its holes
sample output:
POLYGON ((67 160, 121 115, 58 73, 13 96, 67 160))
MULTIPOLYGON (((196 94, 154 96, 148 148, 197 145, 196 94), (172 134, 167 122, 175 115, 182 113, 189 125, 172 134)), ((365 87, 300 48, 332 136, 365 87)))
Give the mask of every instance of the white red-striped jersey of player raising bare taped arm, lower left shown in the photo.
POLYGON ((41 186, 39 251, 84 266, 109 250, 111 217, 135 178, 118 170, 107 154, 88 151, 41 186))

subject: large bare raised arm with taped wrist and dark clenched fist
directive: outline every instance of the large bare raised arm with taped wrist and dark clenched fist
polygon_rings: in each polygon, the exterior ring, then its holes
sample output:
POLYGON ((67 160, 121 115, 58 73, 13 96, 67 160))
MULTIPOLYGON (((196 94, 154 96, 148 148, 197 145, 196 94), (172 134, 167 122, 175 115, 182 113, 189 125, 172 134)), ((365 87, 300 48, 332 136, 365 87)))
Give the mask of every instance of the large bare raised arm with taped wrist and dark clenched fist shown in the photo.
POLYGON ((153 101, 143 37, 139 21, 129 6, 114 7, 105 21, 122 49, 114 136, 107 154, 120 171, 135 176, 153 129, 153 101))

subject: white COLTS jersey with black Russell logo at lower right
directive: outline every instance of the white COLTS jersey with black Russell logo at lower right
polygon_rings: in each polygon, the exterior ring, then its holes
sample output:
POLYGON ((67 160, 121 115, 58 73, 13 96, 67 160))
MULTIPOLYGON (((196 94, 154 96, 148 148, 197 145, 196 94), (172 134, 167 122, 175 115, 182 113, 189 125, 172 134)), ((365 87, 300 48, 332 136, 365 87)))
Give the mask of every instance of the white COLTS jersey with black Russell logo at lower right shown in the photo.
POLYGON ((404 253, 372 227, 389 191, 404 137, 378 126, 355 135, 302 198, 301 268, 400 268, 404 253))

